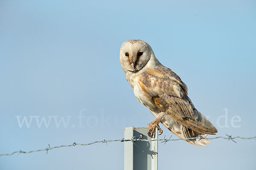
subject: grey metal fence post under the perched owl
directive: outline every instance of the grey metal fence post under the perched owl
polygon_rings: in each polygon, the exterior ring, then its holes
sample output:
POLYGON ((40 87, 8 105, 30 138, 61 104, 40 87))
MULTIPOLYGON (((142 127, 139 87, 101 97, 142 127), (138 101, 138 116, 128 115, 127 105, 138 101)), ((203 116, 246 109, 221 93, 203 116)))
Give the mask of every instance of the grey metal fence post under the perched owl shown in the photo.
POLYGON ((136 139, 158 139, 157 130, 154 138, 148 136, 148 130, 147 127, 125 128, 125 139, 134 139, 135 142, 124 142, 124 170, 157 170, 158 141, 136 141, 136 139))

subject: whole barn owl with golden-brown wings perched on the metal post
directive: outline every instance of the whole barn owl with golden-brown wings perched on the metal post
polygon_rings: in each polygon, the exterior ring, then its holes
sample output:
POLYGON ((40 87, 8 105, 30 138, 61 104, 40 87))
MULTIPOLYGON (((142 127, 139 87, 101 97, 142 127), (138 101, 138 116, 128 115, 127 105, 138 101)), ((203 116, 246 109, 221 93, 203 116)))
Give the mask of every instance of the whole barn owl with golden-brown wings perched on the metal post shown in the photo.
MULTIPOLYGON (((154 136, 161 122, 180 138, 215 135, 217 129, 201 114, 188 97, 188 88, 170 68, 155 57, 148 43, 142 40, 125 41, 120 48, 120 63, 137 100, 155 116, 147 125, 148 136, 154 136)), ((186 140, 206 146, 209 139, 186 140)))

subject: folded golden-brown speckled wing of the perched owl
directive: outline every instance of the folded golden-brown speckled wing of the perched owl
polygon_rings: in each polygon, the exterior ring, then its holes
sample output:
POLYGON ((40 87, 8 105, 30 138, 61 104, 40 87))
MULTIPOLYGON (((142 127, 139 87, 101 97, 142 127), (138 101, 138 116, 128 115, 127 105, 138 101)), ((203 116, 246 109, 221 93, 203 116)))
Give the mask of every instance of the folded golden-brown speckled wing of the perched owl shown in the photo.
POLYGON ((157 108, 167 113, 181 125, 205 134, 215 134, 217 129, 202 115, 187 96, 187 87, 180 77, 163 65, 147 69, 138 76, 145 96, 151 97, 157 108))

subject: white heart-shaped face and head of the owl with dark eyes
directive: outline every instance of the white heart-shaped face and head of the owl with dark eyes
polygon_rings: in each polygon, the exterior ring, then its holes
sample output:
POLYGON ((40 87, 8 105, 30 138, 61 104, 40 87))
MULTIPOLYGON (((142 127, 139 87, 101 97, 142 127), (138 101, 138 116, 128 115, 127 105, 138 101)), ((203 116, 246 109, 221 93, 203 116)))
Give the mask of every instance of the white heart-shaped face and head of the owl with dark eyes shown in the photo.
POLYGON ((127 71, 139 71, 150 57, 150 46, 142 40, 125 41, 120 49, 120 62, 127 71))

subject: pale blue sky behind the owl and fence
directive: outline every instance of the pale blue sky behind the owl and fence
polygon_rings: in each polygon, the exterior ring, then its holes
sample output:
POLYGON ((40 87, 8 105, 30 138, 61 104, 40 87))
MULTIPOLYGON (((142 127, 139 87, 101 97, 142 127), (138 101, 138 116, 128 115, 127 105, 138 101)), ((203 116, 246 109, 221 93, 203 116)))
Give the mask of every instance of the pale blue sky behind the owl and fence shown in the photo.
MULTIPOLYGON (((151 122, 120 67, 119 48, 129 39, 148 42, 181 77, 217 136, 256 136, 255 8, 253 0, 1 0, 0 153, 121 139, 125 127, 151 122), (20 127, 17 116, 32 116, 30 126, 20 127), (51 121, 38 127, 36 117, 51 121), (61 117, 66 127, 55 124, 61 117)), ((159 138, 172 135, 163 130, 159 138)), ((159 143, 158 167, 255 169, 255 140, 236 141, 159 143)), ((1 170, 84 168, 122 169, 123 143, 0 157, 1 170)))

